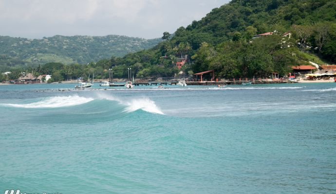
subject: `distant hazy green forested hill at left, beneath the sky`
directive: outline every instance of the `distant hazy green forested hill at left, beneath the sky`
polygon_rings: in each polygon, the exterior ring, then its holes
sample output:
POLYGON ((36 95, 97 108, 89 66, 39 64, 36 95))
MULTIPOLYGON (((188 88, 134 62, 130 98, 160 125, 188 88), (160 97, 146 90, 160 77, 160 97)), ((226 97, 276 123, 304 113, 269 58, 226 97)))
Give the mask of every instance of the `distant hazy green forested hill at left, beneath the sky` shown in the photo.
POLYGON ((0 65, 38 65, 48 62, 89 63, 148 49, 161 39, 127 36, 60 36, 43 39, 0 36, 0 65))

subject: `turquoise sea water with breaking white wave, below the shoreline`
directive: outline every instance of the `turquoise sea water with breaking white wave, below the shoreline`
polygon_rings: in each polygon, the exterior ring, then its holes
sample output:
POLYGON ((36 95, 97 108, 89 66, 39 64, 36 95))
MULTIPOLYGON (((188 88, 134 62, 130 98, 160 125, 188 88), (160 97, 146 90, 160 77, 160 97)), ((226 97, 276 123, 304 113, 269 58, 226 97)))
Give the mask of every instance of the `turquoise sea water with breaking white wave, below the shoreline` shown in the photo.
POLYGON ((0 193, 336 193, 336 83, 0 86, 0 193))

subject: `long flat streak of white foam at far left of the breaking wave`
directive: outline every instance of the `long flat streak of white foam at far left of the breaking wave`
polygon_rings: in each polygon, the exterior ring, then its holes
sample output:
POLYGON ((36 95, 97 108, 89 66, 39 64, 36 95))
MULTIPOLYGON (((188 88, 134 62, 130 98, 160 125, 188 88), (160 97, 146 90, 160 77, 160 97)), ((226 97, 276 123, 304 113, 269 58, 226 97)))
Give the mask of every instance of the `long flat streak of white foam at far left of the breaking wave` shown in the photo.
POLYGON ((47 97, 44 100, 29 104, 3 104, 4 106, 19 108, 57 108, 84 104, 92 101, 93 98, 68 96, 68 97, 47 97))

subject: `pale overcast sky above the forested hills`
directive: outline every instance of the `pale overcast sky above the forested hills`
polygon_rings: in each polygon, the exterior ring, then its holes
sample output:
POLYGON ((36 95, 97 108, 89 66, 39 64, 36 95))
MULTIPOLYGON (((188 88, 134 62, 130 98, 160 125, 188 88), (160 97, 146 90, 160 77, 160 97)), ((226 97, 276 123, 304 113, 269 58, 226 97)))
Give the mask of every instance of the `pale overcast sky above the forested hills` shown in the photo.
POLYGON ((162 37, 229 0, 0 0, 0 35, 162 37))

